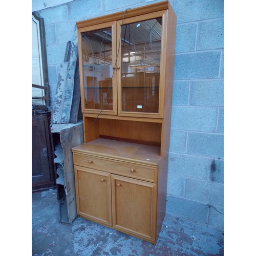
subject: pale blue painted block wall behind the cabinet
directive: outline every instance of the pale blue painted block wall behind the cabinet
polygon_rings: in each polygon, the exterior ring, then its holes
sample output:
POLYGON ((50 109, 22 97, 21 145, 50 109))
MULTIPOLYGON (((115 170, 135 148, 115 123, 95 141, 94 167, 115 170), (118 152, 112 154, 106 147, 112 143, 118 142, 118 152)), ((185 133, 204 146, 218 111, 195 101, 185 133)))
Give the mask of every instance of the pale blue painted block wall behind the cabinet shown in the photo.
MULTIPOLYGON (((45 20, 51 105, 75 23, 160 1, 74 0, 45 20)), ((172 0, 177 15, 166 214, 223 229, 223 0, 172 0)))

